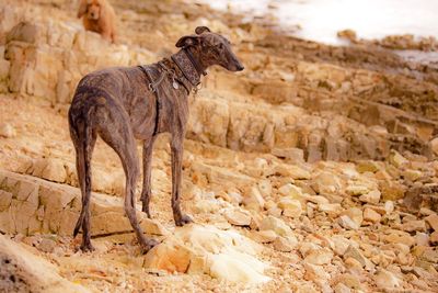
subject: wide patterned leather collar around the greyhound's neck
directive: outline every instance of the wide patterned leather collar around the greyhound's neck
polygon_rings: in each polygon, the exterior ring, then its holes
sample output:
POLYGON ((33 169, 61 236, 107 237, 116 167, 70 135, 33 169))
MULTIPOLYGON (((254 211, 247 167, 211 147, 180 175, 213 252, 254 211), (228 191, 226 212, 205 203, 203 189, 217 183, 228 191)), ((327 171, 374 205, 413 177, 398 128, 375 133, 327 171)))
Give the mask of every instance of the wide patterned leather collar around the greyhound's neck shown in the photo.
POLYGON ((197 87, 200 83, 201 75, 207 75, 207 72, 201 69, 199 63, 195 59, 192 52, 186 48, 183 48, 178 53, 172 55, 171 58, 193 87, 197 87))

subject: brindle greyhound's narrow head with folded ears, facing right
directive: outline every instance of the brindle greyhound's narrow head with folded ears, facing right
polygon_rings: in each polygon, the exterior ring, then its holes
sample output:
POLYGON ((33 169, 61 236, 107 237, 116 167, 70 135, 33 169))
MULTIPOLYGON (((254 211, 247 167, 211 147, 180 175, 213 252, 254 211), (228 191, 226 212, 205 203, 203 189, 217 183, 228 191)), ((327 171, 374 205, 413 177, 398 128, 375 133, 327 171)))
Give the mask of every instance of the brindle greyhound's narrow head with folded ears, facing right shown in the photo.
POLYGON ((231 50, 230 41, 212 33, 207 26, 198 26, 196 34, 186 35, 176 43, 178 48, 193 47, 201 64, 206 67, 219 65, 230 71, 242 71, 243 65, 231 50))

